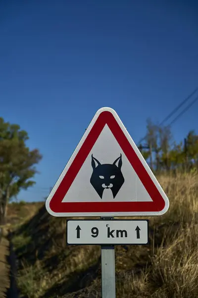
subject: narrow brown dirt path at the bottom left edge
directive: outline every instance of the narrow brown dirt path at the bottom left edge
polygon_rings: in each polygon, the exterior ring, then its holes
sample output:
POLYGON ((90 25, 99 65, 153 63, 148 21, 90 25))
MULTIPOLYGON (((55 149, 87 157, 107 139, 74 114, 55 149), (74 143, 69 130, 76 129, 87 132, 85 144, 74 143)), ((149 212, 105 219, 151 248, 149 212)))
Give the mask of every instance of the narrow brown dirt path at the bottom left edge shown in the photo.
POLYGON ((18 298, 13 277, 13 251, 9 240, 2 236, 0 240, 0 298, 18 298), (11 253, 10 253, 11 249, 11 253))

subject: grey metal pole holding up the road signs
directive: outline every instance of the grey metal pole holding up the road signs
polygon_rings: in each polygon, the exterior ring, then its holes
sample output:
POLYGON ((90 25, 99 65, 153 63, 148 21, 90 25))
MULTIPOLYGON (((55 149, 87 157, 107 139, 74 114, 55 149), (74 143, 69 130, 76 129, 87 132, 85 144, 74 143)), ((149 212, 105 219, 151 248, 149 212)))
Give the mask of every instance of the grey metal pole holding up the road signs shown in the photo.
MULTIPOLYGON (((101 220, 113 218, 102 217, 101 220)), ((115 298, 115 250, 114 245, 101 245, 102 298, 115 298)))

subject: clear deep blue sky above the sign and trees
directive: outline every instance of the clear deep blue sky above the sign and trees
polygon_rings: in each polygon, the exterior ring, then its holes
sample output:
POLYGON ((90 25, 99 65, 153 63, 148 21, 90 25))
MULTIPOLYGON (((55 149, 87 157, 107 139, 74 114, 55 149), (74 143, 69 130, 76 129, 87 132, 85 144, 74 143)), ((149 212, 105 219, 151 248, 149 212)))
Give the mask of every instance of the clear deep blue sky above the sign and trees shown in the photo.
MULTIPOLYGON (((198 85, 198 3, 1 0, 0 116, 39 148, 37 184, 49 193, 96 111, 110 106, 135 142, 198 85)), ((172 127, 198 127, 198 102, 172 127)), ((168 124, 168 123, 167 123, 168 124)))

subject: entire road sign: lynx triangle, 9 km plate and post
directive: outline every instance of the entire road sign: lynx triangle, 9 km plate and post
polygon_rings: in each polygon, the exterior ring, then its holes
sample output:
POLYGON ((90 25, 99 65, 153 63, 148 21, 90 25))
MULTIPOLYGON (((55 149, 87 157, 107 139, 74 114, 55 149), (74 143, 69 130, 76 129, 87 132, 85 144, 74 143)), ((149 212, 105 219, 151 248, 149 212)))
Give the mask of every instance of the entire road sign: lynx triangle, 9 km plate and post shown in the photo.
POLYGON ((97 111, 46 200, 55 217, 67 220, 67 245, 101 245, 102 298, 115 298, 114 245, 148 244, 148 220, 169 200, 117 113, 97 111))

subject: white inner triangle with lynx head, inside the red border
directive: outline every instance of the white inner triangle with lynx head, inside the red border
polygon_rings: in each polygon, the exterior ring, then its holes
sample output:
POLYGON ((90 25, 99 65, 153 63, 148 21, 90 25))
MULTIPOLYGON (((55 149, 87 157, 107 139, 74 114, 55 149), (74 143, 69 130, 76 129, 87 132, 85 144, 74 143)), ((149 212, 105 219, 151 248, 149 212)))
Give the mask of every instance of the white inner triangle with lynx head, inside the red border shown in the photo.
POLYGON ((149 201, 152 199, 147 190, 106 124, 62 202, 149 201), (117 158, 115 167, 113 163, 117 158))

